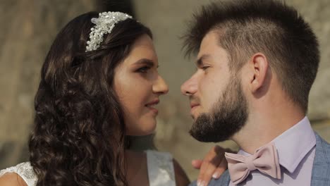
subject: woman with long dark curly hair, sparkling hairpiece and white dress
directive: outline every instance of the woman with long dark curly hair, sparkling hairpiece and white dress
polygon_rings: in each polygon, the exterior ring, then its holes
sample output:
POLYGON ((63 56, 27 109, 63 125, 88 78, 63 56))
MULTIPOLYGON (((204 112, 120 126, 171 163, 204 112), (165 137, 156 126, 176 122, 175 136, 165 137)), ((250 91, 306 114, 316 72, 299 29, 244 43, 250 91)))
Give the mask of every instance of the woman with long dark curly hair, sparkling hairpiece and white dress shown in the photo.
POLYGON ((188 185, 171 154, 129 150, 169 91, 157 67, 152 33, 131 16, 71 20, 42 66, 30 162, 2 170, 0 185, 188 185))

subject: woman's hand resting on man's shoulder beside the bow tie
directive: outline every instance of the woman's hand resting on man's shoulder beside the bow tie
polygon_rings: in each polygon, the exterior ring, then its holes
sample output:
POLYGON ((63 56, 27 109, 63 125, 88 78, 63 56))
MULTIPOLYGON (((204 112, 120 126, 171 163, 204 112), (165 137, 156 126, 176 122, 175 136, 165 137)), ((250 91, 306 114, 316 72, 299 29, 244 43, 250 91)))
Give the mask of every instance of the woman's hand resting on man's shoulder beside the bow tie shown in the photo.
POLYGON ((222 173, 228 168, 225 152, 233 152, 231 149, 224 149, 219 145, 212 147, 207 152, 204 159, 195 159, 192 161, 192 165, 196 169, 200 169, 200 173, 197 178, 199 185, 207 185, 209 181, 219 179, 222 173))

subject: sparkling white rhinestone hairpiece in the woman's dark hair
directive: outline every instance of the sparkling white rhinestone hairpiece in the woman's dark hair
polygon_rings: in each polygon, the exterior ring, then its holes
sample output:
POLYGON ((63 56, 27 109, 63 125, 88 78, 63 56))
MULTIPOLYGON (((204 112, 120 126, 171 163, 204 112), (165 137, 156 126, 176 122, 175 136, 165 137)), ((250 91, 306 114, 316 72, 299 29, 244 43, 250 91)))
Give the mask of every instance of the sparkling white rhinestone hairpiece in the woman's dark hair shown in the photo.
POLYGON ((121 20, 132 18, 132 16, 121 12, 103 12, 99 13, 99 18, 92 18, 94 27, 90 30, 90 40, 87 41, 86 51, 94 51, 99 48, 99 44, 103 41, 103 35, 111 33, 115 24, 121 20))

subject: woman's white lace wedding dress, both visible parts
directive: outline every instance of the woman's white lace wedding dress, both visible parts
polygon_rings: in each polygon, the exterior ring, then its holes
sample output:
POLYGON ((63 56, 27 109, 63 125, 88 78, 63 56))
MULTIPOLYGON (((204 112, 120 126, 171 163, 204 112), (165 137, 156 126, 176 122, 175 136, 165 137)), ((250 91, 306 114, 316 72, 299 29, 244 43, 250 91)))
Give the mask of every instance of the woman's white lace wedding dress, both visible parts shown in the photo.
MULTIPOLYGON (((159 151, 146 151, 149 186, 175 186, 176 180, 171 154, 159 151)), ((17 173, 28 186, 35 186, 37 177, 30 162, 20 163, 17 166, 0 171, 0 177, 5 173, 17 173)))

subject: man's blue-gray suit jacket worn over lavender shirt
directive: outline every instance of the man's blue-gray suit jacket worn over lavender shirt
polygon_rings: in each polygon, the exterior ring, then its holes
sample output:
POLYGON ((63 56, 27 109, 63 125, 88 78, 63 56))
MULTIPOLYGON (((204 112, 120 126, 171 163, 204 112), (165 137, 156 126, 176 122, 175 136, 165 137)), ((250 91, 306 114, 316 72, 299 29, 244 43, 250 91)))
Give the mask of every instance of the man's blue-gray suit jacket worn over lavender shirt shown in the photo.
MULTIPOLYGON (((312 169, 311 186, 329 186, 330 185, 330 144, 315 133, 316 147, 315 158, 312 169)), ((221 175, 218 180, 211 180, 209 186, 229 185, 231 180, 228 170, 221 175)), ((197 185, 196 181, 190 186, 197 185)))

